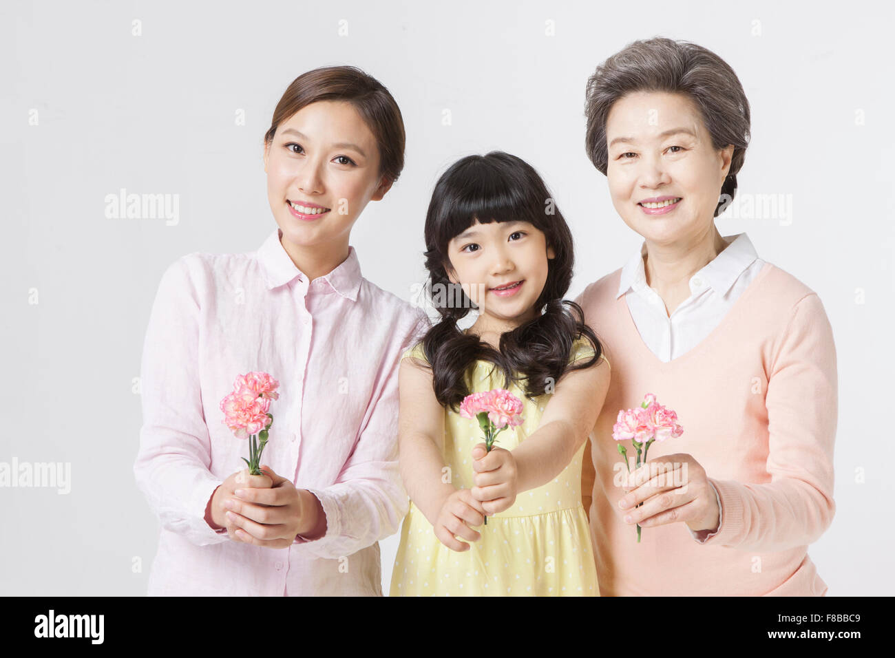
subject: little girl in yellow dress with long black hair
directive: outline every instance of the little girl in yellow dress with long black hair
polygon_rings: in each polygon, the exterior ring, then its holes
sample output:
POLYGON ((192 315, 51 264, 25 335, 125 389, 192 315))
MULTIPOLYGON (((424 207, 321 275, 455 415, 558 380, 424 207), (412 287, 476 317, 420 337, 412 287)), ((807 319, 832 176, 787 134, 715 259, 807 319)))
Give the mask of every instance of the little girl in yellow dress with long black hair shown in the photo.
POLYGON ((411 504, 390 594, 597 596, 581 466, 609 362, 600 365, 581 309, 563 300, 566 221, 532 167, 494 151, 441 176, 425 237, 442 319, 402 355, 400 467, 411 504), (471 303, 479 316, 462 331, 471 303), (478 421, 458 406, 499 388, 523 400, 524 423, 486 453, 478 421))

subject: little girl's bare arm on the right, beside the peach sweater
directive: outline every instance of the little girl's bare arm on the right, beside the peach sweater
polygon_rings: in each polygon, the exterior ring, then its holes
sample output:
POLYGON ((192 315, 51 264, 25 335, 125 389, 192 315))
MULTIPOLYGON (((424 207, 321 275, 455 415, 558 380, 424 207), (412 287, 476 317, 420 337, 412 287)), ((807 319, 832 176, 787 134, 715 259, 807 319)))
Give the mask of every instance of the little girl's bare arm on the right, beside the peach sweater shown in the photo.
POLYGON ((538 429, 513 450, 517 492, 540 487, 562 473, 590 435, 608 390, 609 365, 603 359, 563 375, 538 429))

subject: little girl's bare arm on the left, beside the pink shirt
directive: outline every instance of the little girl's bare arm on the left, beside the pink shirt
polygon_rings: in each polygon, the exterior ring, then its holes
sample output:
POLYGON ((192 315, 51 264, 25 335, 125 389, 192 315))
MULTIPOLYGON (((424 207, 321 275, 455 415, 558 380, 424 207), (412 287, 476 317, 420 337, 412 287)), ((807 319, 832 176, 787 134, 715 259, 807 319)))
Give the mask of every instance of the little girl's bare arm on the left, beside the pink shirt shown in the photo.
POLYGON ((445 410, 432 389, 432 373, 412 356, 401 361, 398 375, 398 450, 401 477, 413 504, 432 526, 454 491, 443 471, 445 410))

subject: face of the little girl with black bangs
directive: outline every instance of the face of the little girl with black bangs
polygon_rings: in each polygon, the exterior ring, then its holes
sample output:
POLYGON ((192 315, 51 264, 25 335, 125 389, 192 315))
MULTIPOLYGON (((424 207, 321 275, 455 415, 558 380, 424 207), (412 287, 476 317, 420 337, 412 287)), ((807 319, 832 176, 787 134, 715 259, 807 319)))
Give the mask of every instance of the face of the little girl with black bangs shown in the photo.
POLYGON ((534 303, 547 281, 547 261, 555 254, 532 224, 476 220, 447 244, 447 255, 448 278, 463 287, 488 325, 506 331, 537 317, 540 309, 534 303))

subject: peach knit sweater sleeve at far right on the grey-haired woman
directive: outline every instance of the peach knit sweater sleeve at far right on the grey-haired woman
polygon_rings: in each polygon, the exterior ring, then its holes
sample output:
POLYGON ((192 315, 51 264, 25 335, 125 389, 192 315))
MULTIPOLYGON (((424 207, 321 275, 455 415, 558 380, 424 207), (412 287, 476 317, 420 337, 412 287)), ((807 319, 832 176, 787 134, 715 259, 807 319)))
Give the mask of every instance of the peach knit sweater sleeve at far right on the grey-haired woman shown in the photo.
POLYGON ((838 415, 836 348, 820 298, 793 308, 771 361, 767 470, 771 483, 709 478, 724 512, 705 544, 784 551, 814 542, 830 526, 833 443, 838 415))

